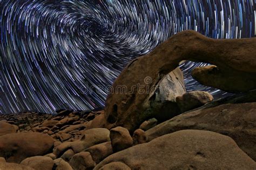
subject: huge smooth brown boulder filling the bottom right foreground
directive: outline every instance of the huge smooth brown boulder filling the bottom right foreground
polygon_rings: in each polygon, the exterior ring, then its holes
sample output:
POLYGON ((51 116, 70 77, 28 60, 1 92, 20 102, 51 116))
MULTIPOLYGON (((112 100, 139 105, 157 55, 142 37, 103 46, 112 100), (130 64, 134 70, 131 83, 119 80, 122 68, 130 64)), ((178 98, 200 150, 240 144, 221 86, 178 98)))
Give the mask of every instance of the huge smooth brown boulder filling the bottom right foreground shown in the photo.
POLYGON ((110 155, 95 169, 123 162, 131 169, 255 169, 256 162, 230 137, 183 130, 110 155))

